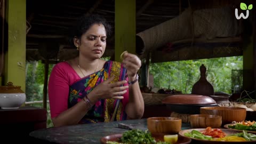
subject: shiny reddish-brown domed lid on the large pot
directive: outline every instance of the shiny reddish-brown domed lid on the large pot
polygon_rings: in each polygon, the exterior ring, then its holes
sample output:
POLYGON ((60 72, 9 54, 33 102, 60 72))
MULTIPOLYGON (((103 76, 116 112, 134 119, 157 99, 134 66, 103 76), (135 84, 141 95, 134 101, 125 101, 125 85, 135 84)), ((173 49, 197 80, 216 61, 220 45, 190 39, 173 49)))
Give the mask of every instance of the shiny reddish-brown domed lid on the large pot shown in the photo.
POLYGON ((197 94, 177 94, 170 95, 162 100, 165 104, 186 104, 186 105, 210 105, 215 104, 216 101, 211 97, 197 94))

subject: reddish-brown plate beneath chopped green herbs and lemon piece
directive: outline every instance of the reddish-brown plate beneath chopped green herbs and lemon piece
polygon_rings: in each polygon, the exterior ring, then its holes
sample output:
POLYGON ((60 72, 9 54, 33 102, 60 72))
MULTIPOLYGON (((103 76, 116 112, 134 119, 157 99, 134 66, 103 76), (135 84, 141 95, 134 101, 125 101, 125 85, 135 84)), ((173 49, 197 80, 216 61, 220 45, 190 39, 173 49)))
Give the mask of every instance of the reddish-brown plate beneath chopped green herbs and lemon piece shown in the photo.
MULTIPOLYGON (((164 141, 164 135, 166 134, 161 134, 161 133, 156 133, 152 134, 152 137, 155 138, 156 141, 164 141)), ((107 141, 116 141, 119 142, 119 139, 122 137, 122 134, 113 134, 113 135, 108 135, 106 137, 102 137, 100 139, 100 142, 103 144, 106 144, 107 141)), ((188 144, 191 142, 191 139, 188 137, 181 137, 179 135, 178 141, 175 144, 188 144)))

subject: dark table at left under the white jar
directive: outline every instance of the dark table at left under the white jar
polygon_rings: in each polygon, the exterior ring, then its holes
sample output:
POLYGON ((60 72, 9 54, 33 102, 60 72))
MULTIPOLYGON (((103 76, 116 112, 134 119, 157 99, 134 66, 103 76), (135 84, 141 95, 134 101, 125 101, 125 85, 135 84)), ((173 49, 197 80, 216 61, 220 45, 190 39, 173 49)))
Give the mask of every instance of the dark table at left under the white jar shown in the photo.
POLYGON ((46 121, 47 111, 43 108, 0 109, 1 141, 29 143, 29 133, 45 129, 46 121))

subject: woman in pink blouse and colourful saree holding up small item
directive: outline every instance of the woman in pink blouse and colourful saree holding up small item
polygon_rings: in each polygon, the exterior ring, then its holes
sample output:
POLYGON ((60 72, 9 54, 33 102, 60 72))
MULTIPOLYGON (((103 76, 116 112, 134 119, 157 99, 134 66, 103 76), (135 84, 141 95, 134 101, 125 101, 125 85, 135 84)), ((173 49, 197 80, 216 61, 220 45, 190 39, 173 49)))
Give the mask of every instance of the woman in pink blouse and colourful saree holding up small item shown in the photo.
POLYGON ((99 15, 79 19, 73 30, 79 56, 55 65, 49 79, 54 126, 142 117, 144 102, 137 81, 140 59, 127 52, 122 63, 100 59, 110 28, 99 15))

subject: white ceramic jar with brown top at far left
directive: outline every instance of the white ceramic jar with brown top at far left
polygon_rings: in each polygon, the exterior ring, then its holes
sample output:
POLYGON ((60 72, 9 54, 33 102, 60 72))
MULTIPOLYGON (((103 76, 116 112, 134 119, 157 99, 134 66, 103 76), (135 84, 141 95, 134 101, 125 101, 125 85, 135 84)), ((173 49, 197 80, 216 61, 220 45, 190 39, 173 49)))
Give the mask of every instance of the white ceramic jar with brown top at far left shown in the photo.
POLYGON ((0 107, 2 109, 19 108, 26 101, 26 94, 20 86, 13 86, 8 82, 6 86, 0 86, 0 107))

